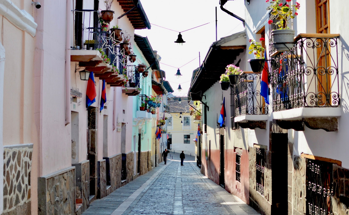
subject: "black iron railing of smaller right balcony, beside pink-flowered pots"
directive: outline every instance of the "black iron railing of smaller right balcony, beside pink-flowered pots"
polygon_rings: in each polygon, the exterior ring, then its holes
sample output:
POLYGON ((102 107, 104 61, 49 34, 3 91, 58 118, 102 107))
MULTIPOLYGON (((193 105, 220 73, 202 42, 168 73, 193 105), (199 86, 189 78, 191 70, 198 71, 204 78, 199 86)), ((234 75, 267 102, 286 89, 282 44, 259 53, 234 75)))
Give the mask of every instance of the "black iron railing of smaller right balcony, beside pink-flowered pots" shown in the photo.
POLYGON ((268 114, 268 104, 260 95, 261 73, 244 73, 233 88, 235 116, 268 114))

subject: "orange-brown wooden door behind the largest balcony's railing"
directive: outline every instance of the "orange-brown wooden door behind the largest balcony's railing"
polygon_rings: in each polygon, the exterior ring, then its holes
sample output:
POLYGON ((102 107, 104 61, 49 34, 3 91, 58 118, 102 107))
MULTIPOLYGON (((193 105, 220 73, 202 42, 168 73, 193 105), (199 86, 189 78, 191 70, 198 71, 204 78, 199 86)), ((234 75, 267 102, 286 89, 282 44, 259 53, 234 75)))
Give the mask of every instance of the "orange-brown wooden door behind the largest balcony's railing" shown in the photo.
MULTIPOLYGON (((317 33, 329 32, 329 0, 315 0, 317 33)), ((331 105, 331 75, 328 72, 330 64, 330 46, 326 40, 318 39, 317 48, 317 77, 318 77, 318 106, 331 105), (327 97, 327 99, 326 99, 327 97)))

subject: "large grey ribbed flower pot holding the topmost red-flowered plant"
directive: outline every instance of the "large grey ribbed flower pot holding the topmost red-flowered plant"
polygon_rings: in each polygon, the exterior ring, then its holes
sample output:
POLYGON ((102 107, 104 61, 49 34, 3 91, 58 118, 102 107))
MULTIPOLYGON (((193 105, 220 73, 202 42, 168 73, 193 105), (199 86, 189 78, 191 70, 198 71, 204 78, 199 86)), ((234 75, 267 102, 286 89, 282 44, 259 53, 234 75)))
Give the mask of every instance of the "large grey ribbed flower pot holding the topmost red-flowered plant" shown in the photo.
POLYGON ((273 45, 278 52, 289 52, 294 46, 295 30, 282 29, 272 31, 273 45), (275 44, 279 43, 279 44, 275 44))

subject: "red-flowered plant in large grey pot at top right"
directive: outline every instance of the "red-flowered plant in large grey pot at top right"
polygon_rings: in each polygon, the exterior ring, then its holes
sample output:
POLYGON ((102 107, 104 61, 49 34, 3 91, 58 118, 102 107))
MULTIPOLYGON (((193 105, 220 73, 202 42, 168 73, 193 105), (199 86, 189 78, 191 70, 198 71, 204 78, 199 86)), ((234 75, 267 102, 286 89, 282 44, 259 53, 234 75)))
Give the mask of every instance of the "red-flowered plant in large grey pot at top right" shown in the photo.
MULTIPOLYGON (((286 0, 285 5, 283 5, 282 0, 266 1, 270 3, 267 10, 271 9, 271 14, 276 16, 276 19, 279 20, 275 23, 279 26, 279 29, 272 31, 272 41, 274 43, 274 48, 278 52, 290 51, 294 46, 295 30, 289 29, 288 22, 298 15, 297 10, 300 5, 296 2, 295 5, 290 6, 287 4, 287 2, 290 1, 291 0, 286 0)), ((270 25, 273 21, 269 20, 268 23, 270 25)))

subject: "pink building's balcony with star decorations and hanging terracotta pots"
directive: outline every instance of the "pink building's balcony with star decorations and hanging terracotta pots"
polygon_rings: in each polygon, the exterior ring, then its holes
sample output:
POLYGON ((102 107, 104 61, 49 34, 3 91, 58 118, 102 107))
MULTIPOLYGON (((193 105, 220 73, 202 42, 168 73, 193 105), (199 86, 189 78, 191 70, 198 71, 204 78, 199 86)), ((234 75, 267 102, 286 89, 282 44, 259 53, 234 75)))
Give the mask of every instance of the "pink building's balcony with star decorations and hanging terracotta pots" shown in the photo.
POLYGON ((110 86, 124 86, 128 77, 128 67, 134 67, 134 60, 131 62, 128 53, 120 49, 120 41, 116 39, 114 32, 109 29, 106 31, 101 27, 98 11, 74 10, 72 12, 74 42, 70 51, 71 61, 79 62, 80 67, 93 71, 95 77, 106 80, 110 86), (112 71, 113 66, 118 68, 118 74, 112 71))

